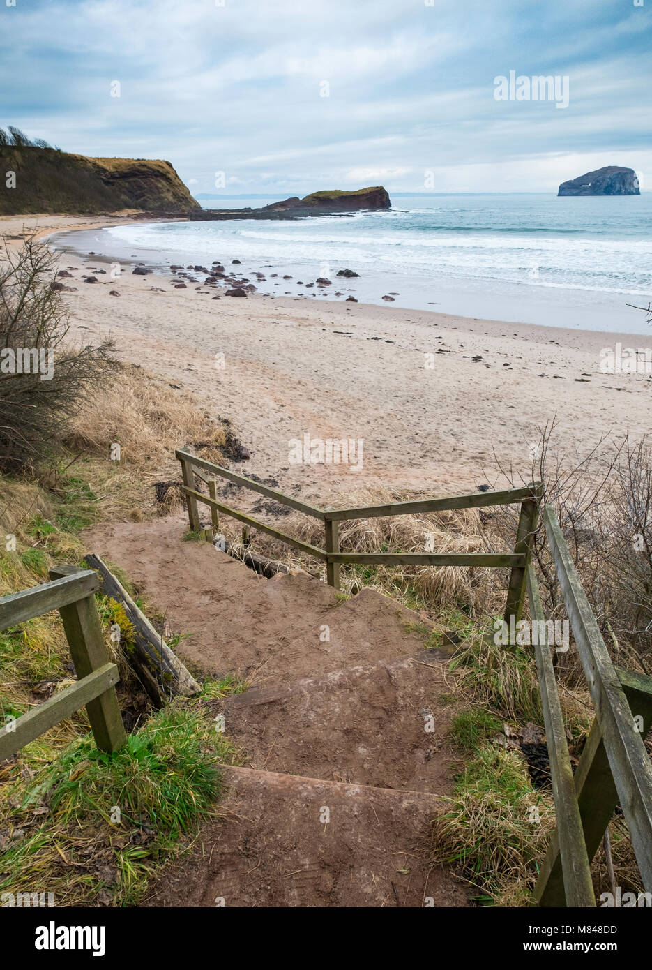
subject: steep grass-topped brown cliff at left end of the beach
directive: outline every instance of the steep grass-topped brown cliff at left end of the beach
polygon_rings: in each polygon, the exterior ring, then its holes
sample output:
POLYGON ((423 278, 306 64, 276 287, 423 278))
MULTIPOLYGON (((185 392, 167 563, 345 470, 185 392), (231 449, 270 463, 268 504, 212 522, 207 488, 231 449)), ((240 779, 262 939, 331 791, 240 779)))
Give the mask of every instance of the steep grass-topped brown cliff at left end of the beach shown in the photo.
POLYGON ((170 162, 0 146, 0 214, 125 209, 186 215, 201 207, 170 162), (16 187, 7 187, 11 172, 16 173, 16 187))

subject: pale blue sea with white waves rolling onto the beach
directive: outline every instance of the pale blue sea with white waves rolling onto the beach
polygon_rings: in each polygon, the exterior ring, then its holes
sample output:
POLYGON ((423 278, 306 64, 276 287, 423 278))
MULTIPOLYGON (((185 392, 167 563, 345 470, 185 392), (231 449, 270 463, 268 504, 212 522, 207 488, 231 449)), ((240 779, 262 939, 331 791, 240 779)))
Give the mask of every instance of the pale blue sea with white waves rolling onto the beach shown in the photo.
MULTIPOLYGON (((276 201, 233 197, 202 200, 202 206, 257 208, 276 201)), ((214 260, 231 269, 239 260, 238 272, 264 273, 265 281, 252 281, 274 296, 354 296, 379 306, 652 334, 650 314, 637 308, 652 300, 652 192, 395 195, 383 212, 136 223, 58 234, 50 241, 162 271, 171 263, 210 267, 214 260), (338 277, 340 270, 358 275, 338 277), (331 284, 306 289, 318 277, 331 284), (388 296, 390 301, 383 299, 388 296)))

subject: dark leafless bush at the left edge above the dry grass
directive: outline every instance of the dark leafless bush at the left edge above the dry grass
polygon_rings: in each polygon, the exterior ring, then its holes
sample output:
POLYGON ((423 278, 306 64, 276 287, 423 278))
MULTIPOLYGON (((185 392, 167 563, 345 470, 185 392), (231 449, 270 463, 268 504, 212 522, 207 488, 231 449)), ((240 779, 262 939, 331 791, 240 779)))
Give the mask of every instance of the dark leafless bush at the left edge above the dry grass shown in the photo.
POLYGON ((113 343, 74 344, 52 289, 55 257, 28 240, 0 270, 0 471, 50 457, 68 420, 109 378, 113 343))

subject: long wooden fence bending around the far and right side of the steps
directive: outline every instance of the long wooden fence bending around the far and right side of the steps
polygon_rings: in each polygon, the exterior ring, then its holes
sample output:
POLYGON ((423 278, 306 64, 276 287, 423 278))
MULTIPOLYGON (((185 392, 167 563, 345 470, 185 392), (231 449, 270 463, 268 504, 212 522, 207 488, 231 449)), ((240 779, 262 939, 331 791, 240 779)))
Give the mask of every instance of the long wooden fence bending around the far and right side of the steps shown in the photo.
MULTIPOLYGON (((652 892, 652 764, 643 740, 652 725, 652 677, 614 667, 588 598, 574 568, 573 560, 549 506, 543 503, 543 483, 523 488, 443 499, 400 501, 387 505, 357 508, 318 508, 297 501, 260 482, 234 471, 206 462, 189 451, 177 450, 181 463, 184 494, 190 528, 202 533, 198 502, 211 510, 210 533, 219 532, 219 512, 273 535, 301 552, 326 563, 326 580, 339 588, 342 563, 368 563, 405 566, 508 566, 510 578, 505 620, 515 625, 522 617, 525 599, 529 600, 531 630, 542 630, 541 642, 534 652, 542 695, 543 720, 547 740, 552 793, 557 828, 540 866, 535 896, 540 906, 594 907, 590 865, 604 838, 606 827, 619 804, 628 825, 643 886, 652 892), (206 478, 200 469, 209 472, 206 478), (208 487, 206 497, 195 488, 194 475, 208 487), (278 529, 217 501, 215 477, 273 499, 324 522, 324 548, 295 539, 278 529), (347 519, 369 519, 438 512, 451 509, 482 508, 491 505, 520 504, 512 553, 347 553, 339 547, 338 523, 347 519), (543 605, 532 550, 535 534, 542 528, 550 547, 564 602, 574 633, 574 642, 596 711, 591 732, 575 772, 566 740, 562 707, 557 689, 551 649, 554 644, 545 625, 543 605)), ((537 637, 532 637, 536 640, 537 637)), ((509 648, 508 648, 509 649, 509 648)))

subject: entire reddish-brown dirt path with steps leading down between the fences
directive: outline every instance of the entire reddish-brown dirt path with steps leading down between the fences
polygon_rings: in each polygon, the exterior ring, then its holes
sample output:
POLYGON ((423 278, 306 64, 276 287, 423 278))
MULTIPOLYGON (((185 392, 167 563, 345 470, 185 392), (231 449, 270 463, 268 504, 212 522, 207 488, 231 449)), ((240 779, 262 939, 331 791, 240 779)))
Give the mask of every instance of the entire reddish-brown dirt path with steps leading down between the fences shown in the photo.
POLYGON ((245 752, 224 769, 221 818, 146 904, 468 905, 423 856, 455 755, 445 664, 424 650, 419 616, 369 589, 342 601, 303 572, 264 579, 184 542, 186 529, 178 516, 86 534, 172 632, 192 634, 185 663, 253 685, 218 709, 245 752))

